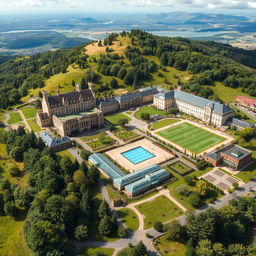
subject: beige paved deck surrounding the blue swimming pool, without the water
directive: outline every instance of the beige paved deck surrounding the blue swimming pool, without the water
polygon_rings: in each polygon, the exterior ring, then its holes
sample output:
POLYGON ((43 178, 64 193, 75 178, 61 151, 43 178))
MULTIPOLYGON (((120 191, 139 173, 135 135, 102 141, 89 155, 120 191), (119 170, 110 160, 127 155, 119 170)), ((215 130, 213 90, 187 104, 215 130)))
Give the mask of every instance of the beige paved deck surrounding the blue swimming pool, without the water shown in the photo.
POLYGON ((107 151, 106 154, 110 156, 114 161, 116 161, 119 165, 121 165, 123 168, 130 172, 142 169, 152 164, 161 164, 174 158, 173 154, 161 149, 152 141, 147 139, 142 139, 131 144, 126 144, 122 147, 107 151), (155 156, 138 164, 133 164, 127 158, 122 156, 122 153, 137 147, 143 147, 145 150, 147 150, 148 152, 155 156))

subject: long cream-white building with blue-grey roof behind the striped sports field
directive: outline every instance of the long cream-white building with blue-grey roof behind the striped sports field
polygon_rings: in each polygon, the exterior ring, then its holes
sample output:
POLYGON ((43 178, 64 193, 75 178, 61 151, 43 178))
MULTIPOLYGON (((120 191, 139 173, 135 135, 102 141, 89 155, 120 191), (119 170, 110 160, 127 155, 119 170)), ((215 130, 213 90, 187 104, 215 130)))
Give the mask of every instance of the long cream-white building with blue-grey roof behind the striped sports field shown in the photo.
POLYGON ((172 107, 182 113, 194 116, 206 124, 217 127, 224 125, 234 110, 225 104, 214 102, 180 90, 164 91, 154 96, 154 105, 161 110, 172 107))

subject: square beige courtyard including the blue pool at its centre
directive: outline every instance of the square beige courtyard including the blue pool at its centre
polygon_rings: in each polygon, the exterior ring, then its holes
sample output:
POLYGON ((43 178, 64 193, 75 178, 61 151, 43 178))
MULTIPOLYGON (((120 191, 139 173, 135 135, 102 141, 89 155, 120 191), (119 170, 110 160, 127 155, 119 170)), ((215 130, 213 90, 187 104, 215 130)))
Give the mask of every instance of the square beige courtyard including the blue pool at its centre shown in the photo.
POLYGON ((173 154, 159 148, 147 139, 107 151, 106 154, 130 172, 174 158, 173 154))

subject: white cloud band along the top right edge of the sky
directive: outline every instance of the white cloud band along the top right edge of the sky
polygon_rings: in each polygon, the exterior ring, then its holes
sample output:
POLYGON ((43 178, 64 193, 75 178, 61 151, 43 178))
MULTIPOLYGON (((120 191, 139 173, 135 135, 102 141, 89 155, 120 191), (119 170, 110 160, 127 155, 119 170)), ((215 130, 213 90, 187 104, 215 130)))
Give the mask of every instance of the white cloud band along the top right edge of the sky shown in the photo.
POLYGON ((256 8, 256 0, 112 0, 123 5, 132 6, 168 6, 168 7, 197 7, 197 8, 225 8, 250 9, 256 8))

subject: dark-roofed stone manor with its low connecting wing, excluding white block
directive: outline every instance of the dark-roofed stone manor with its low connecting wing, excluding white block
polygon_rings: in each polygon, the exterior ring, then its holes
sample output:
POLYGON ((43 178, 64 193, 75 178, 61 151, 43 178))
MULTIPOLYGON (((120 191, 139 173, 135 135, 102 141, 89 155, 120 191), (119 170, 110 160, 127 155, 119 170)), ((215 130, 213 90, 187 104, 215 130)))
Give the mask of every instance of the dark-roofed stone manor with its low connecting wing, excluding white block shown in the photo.
POLYGON ((37 113, 37 123, 41 127, 53 126, 61 136, 82 133, 101 127, 104 114, 153 103, 154 95, 162 89, 147 87, 123 94, 115 98, 96 101, 93 84, 82 90, 76 85, 76 91, 49 96, 42 92, 42 111, 37 113))

